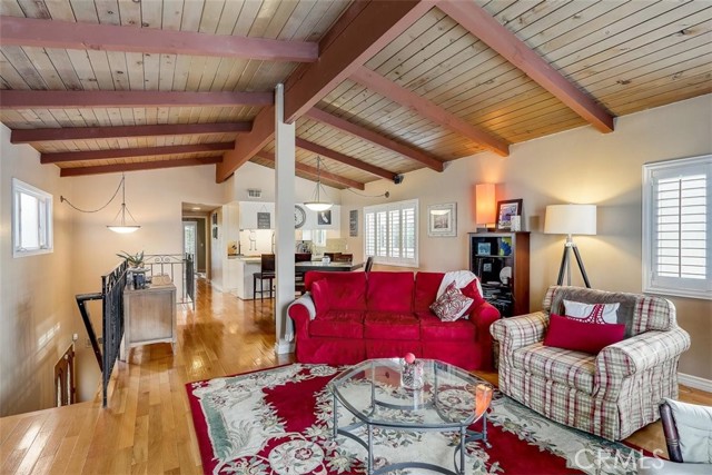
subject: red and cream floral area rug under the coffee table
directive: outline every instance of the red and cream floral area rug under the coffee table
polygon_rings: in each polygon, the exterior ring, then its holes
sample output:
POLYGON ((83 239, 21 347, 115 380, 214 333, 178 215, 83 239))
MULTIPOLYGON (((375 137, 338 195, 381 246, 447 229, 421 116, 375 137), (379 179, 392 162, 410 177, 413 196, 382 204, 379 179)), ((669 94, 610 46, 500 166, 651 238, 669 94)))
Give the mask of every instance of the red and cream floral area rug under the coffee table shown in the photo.
MULTIPOLYGON (((332 475, 366 473, 366 451, 332 436, 327 383, 345 368, 300 365, 186 385, 206 474, 332 475)), ((466 446, 466 474, 635 474, 637 451, 582 433, 495 392, 487 433, 466 446)), ((342 405, 338 425, 355 420, 342 405)), ((481 423, 473 429, 481 429, 481 423)), ((365 435, 365 429, 362 436, 365 435)), ((454 469, 457 433, 374 431, 375 468, 425 462, 454 469)), ((396 475, 433 473, 402 468, 396 475)))

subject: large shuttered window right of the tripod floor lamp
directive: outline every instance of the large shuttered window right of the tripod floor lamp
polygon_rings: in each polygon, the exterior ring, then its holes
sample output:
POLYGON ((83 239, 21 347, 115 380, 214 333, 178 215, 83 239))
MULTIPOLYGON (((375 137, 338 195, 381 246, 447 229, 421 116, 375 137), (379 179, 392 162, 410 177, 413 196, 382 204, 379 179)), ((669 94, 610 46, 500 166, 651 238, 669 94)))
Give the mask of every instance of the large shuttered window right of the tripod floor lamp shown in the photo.
POLYGON ((712 299, 712 155, 643 166, 643 290, 712 299))

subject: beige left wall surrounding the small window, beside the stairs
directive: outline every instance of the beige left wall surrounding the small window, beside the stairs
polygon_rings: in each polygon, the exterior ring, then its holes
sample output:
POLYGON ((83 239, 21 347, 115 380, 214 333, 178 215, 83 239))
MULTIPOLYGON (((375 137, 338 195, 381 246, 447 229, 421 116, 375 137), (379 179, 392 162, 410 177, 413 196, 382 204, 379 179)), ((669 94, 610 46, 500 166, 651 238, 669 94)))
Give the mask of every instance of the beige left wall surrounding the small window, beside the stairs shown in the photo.
POLYGON ((50 407, 55 364, 82 330, 73 303, 71 216, 59 197, 69 184, 0 125, 0 416, 50 407), (55 251, 12 257, 12 178, 53 196, 55 251))

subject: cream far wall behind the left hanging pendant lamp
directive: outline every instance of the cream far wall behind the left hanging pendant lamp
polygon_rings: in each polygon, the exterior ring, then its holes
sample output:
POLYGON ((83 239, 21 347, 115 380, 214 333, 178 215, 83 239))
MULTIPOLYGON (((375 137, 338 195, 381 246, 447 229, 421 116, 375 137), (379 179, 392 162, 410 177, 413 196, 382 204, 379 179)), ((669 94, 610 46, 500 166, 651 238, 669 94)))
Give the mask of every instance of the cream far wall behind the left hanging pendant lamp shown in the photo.
MULTIPOLYGON (((62 180, 71 186, 72 191, 68 197, 72 204, 92 208, 108 201, 120 179, 120 174, 108 174, 62 180)), ((146 254, 181 255, 181 204, 187 201, 217 206, 221 202, 224 187, 215 184, 214 166, 126 174, 126 205, 141 226, 138 231, 129 235, 119 235, 106 227, 118 211, 120 200, 115 200, 107 209, 96 214, 71 211, 75 219, 72 295, 99 291, 101 275, 120 261, 116 254, 122 250, 130 254, 144 250, 146 254)), ((175 279, 175 283, 180 295, 182 283, 180 279, 175 279)), ((95 327, 100 329, 99 305, 90 306, 90 311, 95 327)), ((82 348, 82 352, 90 349, 82 348)), ((85 380, 98 382, 98 366, 83 365, 80 376, 85 380)), ((82 386, 82 399, 91 397, 95 388, 96 384, 93 387, 82 386)))

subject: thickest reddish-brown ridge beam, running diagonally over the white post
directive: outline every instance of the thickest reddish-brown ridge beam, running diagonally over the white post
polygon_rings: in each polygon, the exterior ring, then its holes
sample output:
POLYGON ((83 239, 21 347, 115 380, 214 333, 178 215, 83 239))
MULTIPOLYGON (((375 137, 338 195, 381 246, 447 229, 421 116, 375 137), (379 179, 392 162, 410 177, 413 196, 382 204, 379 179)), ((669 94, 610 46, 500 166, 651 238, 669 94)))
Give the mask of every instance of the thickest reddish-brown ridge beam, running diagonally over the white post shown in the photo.
MULTIPOLYGON (((319 41, 319 60, 300 65, 285 81, 285 118, 293 122, 309 110, 350 71, 366 62, 405 31, 435 3, 428 0, 356 1, 319 41)), ((229 178, 253 158, 275 133, 274 108, 265 108, 254 120, 253 131, 238 140, 235 151, 216 167, 216 181, 229 178)))

